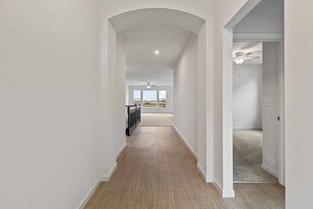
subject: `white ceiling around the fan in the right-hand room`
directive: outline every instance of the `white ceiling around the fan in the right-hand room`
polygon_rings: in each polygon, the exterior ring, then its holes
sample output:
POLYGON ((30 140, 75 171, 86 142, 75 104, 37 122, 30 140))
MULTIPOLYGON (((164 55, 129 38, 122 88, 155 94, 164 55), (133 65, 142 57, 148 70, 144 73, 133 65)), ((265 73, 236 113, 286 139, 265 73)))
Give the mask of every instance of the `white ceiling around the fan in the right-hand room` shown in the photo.
MULTIPOLYGON (((245 54, 251 52, 249 57, 260 57, 258 59, 245 60, 241 65, 262 65, 262 42, 233 42, 233 56, 237 52, 244 52, 245 54)), ((233 61, 234 65, 237 65, 233 61)))

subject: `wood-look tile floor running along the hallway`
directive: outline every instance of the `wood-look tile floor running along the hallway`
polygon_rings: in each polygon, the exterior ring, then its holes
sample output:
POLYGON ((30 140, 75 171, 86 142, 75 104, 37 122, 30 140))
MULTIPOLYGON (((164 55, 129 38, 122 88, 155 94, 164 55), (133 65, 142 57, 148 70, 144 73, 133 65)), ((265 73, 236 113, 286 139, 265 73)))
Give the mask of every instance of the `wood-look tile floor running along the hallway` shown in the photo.
POLYGON ((173 127, 139 126, 126 139, 109 182, 102 182, 84 209, 283 209, 285 187, 234 184, 222 198, 205 183, 197 161, 173 127))

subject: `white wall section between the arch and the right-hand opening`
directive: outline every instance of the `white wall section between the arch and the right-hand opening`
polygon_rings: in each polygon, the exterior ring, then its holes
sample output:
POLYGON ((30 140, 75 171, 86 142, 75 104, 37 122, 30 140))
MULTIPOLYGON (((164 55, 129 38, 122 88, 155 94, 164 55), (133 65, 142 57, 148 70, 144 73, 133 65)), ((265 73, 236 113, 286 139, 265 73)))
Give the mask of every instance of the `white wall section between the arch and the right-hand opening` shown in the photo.
POLYGON ((234 195, 232 183, 232 31, 225 30, 224 26, 246 2, 247 0, 213 1, 213 182, 224 197, 234 195), (228 42, 223 43, 224 40, 228 42), (228 100, 223 101, 223 97, 228 100), (223 127, 223 111, 227 112, 227 114, 224 113, 227 127, 223 127))

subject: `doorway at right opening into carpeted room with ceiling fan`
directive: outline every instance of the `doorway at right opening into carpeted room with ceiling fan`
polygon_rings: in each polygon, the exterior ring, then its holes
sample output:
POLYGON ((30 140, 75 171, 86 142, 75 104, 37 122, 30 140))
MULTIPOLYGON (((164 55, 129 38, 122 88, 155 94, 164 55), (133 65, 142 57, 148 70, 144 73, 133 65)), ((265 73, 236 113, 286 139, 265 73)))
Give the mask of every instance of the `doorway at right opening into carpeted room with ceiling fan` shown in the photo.
POLYGON ((234 42, 233 180, 277 182, 279 42, 234 42))

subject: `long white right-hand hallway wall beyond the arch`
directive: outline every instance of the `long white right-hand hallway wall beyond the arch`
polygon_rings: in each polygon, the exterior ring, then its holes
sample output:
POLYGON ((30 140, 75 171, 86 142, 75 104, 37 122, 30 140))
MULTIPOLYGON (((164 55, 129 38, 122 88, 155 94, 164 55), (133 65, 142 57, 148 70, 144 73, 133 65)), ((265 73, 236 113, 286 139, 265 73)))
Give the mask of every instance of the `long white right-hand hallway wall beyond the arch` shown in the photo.
POLYGON ((193 33, 174 68, 174 126, 198 158, 198 37, 193 33))

